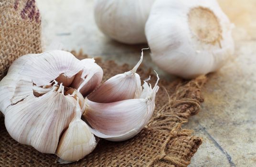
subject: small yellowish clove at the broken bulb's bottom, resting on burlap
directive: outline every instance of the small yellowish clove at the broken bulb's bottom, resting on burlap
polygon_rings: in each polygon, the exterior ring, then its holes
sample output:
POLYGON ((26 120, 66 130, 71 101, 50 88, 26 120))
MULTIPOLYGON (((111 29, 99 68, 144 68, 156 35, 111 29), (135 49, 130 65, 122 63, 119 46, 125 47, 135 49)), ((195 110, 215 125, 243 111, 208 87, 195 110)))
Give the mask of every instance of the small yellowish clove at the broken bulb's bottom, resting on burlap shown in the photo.
POLYGON ((91 153, 97 145, 96 138, 89 126, 81 120, 81 109, 76 107, 76 116, 70 122, 60 139, 56 155, 61 161, 78 161, 91 153))

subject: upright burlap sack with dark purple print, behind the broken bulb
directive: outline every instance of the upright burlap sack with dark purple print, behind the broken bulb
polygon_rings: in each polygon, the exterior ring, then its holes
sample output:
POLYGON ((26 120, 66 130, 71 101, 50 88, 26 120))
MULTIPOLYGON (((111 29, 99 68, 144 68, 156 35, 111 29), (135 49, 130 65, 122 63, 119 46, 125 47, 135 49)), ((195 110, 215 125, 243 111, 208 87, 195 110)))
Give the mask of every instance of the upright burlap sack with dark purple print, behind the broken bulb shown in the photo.
POLYGON ((0 0, 0 80, 24 54, 41 52, 41 18, 35 0, 0 0))

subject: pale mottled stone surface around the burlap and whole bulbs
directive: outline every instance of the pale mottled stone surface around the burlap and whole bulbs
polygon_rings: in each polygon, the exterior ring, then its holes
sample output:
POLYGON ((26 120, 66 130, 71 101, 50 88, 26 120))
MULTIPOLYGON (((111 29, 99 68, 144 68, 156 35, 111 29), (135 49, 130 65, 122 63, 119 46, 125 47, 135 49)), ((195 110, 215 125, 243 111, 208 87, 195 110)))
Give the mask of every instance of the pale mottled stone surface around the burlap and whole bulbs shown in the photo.
MULTIPOLYGON (((205 102, 185 125, 203 138, 190 167, 256 167, 256 0, 219 0, 235 23, 233 60, 209 74, 205 102)), ((124 45, 104 36, 93 18, 93 0, 37 0, 45 50, 80 49, 90 56, 134 65, 142 45, 124 45)), ((158 69, 145 52, 145 68, 158 69)))

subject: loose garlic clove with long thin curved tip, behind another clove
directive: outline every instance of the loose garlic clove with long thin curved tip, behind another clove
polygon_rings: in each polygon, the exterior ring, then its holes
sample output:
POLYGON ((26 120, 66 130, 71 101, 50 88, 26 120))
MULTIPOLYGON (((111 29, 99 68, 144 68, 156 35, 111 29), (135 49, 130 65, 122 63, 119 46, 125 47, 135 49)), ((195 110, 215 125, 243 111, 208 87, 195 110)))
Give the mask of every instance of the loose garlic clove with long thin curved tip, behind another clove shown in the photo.
POLYGON ((111 103, 121 100, 139 98, 141 94, 140 76, 136 73, 143 60, 143 49, 139 62, 126 73, 117 74, 100 85, 87 98, 97 103, 111 103))

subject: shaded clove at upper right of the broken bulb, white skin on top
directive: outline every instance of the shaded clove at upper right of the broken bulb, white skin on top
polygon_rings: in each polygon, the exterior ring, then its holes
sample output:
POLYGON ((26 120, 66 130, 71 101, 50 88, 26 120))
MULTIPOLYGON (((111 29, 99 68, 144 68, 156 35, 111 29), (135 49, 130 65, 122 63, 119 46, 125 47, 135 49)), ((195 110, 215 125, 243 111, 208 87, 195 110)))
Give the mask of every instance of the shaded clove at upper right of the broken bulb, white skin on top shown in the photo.
POLYGON ((71 87, 87 96, 100 84, 103 70, 95 63, 94 59, 84 59, 81 62, 85 64, 85 68, 75 75, 71 87))

